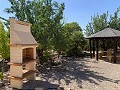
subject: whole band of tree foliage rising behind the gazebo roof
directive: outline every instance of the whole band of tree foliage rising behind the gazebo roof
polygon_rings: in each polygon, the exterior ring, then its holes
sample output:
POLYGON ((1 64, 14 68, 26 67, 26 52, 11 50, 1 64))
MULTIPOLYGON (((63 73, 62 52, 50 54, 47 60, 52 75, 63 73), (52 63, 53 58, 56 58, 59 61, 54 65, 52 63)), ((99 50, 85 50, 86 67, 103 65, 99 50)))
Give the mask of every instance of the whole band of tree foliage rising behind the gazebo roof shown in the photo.
POLYGON ((86 25, 86 35, 89 36, 107 27, 120 30, 119 11, 120 8, 118 8, 113 15, 109 15, 107 12, 102 15, 97 14, 94 17, 91 17, 91 21, 86 25))

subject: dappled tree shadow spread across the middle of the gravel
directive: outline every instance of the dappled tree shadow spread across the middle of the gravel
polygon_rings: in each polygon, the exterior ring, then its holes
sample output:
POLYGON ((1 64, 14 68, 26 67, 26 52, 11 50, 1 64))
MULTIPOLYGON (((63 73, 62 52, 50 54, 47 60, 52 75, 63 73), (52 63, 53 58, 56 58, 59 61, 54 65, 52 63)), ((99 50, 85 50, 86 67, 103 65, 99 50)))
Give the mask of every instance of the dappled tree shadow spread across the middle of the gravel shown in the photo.
POLYGON ((86 66, 86 62, 89 62, 88 59, 66 59, 63 61, 63 65, 59 67, 54 67, 52 69, 47 69, 40 67, 39 75, 41 80, 54 82, 57 81, 58 85, 63 84, 69 85, 71 80, 76 80, 79 88, 82 88, 82 81, 89 81, 99 85, 98 82, 109 81, 115 82, 114 80, 100 76, 98 72, 90 70, 89 66, 86 66))

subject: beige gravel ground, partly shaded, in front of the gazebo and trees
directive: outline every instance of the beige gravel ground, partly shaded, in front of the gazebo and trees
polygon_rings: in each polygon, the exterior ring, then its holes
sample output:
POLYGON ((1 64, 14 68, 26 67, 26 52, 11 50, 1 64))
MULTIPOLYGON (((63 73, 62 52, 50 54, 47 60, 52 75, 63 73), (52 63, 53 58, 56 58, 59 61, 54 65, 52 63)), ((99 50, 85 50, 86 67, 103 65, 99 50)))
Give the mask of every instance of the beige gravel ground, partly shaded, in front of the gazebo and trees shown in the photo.
POLYGON ((68 59, 60 68, 42 70, 37 79, 73 90, 120 90, 120 64, 68 59))

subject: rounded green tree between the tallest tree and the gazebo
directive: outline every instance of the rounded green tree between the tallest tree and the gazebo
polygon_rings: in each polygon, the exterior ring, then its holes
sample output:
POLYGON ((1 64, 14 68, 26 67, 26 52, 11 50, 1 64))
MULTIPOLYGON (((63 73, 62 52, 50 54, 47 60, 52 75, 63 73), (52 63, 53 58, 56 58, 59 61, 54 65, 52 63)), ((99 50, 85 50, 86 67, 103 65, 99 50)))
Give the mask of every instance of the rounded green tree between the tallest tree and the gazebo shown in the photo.
POLYGON ((77 22, 66 23, 63 26, 66 41, 66 52, 69 56, 81 56, 86 44, 82 29, 77 22))

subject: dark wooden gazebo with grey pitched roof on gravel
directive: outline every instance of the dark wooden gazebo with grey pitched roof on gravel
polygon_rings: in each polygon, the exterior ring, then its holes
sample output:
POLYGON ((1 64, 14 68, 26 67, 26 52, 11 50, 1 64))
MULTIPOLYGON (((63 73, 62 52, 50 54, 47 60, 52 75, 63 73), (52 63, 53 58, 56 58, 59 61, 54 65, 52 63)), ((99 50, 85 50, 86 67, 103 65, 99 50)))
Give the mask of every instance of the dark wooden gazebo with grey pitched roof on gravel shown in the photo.
POLYGON ((101 30, 89 37, 89 45, 90 45, 90 56, 91 58, 95 56, 95 43, 96 43, 96 60, 98 60, 98 49, 99 49, 99 40, 103 42, 103 49, 105 50, 105 40, 111 39, 114 42, 113 46, 113 61, 116 63, 116 54, 117 54, 117 45, 118 41, 120 39, 120 31, 112 29, 112 28, 106 28, 104 30, 101 30), (93 53, 92 53, 93 51, 93 53))

